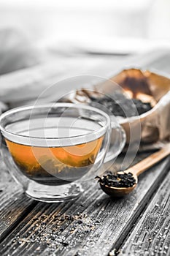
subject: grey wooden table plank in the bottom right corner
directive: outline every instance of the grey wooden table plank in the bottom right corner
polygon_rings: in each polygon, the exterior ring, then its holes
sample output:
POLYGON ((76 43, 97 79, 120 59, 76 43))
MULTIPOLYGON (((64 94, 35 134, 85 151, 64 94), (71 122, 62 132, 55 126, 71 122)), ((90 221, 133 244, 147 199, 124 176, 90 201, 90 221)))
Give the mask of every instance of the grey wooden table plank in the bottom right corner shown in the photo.
POLYGON ((125 241, 119 256, 170 255, 170 173, 125 241))

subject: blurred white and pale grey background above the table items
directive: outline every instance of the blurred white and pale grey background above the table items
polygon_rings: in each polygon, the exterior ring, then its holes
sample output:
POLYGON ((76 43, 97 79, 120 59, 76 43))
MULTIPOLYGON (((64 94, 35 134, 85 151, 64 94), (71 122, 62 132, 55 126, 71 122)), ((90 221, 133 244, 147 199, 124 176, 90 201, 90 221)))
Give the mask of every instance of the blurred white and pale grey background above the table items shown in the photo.
POLYGON ((170 54, 161 52, 170 52, 169 0, 0 0, 0 17, 5 102, 32 99, 58 79, 109 78, 129 65, 170 73, 170 54), (131 53, 143 55, 130 61, 131 53))

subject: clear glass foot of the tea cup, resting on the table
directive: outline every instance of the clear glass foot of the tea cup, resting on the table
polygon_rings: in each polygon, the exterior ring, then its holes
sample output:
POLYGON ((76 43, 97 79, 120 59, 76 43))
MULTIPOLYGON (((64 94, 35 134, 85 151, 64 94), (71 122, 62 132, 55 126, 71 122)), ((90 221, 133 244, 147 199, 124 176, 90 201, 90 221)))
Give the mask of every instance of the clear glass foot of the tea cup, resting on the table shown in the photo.
POLYGON ((74 200, 82 192, 82 186, 74 182, 61 186, 47 186, 30 181, 25 194, 41 202, 60 203, 66 200, 74 200))

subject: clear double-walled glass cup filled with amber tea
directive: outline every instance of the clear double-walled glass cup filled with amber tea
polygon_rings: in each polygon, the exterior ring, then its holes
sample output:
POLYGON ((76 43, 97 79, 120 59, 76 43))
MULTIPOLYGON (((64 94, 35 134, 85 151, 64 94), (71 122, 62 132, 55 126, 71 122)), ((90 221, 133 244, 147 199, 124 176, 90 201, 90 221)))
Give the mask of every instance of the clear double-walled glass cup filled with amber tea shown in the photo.
POLYGON ((29 197, 72 200, 82 192, 83 181, 100 174, 110 123, 107 113, 82 104, 15 108, 0 117, 2 157, 29 197))

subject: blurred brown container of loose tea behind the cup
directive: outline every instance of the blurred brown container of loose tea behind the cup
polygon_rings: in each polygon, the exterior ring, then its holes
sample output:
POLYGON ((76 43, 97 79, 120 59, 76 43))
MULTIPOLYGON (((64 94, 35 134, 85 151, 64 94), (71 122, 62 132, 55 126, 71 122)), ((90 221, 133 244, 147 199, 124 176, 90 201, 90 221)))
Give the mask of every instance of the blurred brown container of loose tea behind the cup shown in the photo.
MULTIPOLYGON (((170 79, 150 71, 125 69, 109 80, 92 89, 104 94, 113 94, 117 88, 123 89, 128 97, 150 102, 152 109, 140 116, 117 118, 125 129, 126 143, 139 139, 142 143, 155 143, 170 137, 170 79), (118 84, 118 87, 117 87, 118 84), (139 130, 141 125, 141 131, 139 130), (133 137, 133 138, 131 138, 133 137)), ((69 102, 89 102, 90 90, 81 89, 69 95, 69 102)), ((99 94, 98 94, 99 95, 99 94)))

